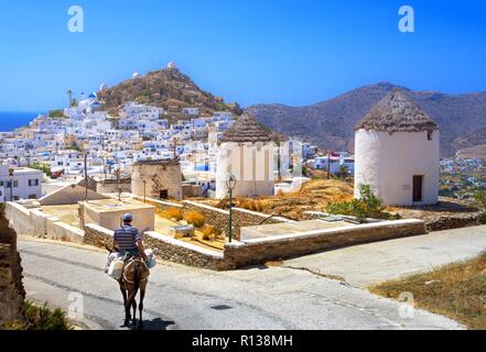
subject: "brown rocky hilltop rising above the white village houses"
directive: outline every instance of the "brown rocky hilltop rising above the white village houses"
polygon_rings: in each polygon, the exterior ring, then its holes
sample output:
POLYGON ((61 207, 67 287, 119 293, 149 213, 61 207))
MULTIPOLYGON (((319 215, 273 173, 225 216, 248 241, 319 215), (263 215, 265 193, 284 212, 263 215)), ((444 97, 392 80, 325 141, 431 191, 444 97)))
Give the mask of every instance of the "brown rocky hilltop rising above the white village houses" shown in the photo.
POLYGON ((164 108, 171 116, 182 116, 183 108, 199 108, 202 113, 233 111, 241 114, 237 103, 226 103, 223 98, 214 97, 202 90, 191 78, 176 68, 151 72, 126 80, 116 87, 99 91, 104 108, 117 113, 127 101, 164 108))

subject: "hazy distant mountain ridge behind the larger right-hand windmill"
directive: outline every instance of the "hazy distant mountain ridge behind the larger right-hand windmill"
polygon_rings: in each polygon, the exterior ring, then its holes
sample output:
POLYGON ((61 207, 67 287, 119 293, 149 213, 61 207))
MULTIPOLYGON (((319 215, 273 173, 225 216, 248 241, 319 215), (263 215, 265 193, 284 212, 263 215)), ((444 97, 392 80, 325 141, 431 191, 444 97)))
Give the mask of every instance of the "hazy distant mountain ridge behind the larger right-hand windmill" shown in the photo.
MULTIPOLYGON (((274 132, 300 138, 323 148, 353 150, 356 124, 397 87, 380 82, 310 107, 258 105, 248 110, 274 132)), ((399 88, 439 124, 442 156, 453 156, 463 148, 486 148, 486 92, 445 95, 399 88)))

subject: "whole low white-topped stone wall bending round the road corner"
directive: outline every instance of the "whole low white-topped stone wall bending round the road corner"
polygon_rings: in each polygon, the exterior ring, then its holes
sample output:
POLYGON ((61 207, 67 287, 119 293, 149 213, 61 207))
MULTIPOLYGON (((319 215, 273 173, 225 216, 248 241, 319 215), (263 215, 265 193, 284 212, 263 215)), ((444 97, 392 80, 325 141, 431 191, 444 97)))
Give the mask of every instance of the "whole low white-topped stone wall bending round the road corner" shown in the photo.
MULTIPOLYGON (((424 233, 423 221, 400 220, 309 231, 300 234, 283 234, 271 239, 235 241, 227 243, 223 253, 156 232, 145 232, 144 242, 145 248, 154 251, 158 260, 215 271, 227 271, 262 264, 271 260, 424 233)), ((84 243, 99 248, 111 246, 112 237, 114 231, 90 223, 85 228, 84 243)))

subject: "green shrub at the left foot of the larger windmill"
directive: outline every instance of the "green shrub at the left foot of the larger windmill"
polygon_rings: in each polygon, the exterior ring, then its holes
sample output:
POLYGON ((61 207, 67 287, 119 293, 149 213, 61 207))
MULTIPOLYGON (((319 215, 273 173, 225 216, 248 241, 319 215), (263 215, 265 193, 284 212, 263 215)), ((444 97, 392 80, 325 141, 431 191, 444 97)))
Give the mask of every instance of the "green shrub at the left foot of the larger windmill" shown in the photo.
POLYGON ((376 197, 369 185, 359 185, 359 199, 352 201, 330 202, 327 212, 332 215, 353 216, 359 222, 365 222, 367 218, 384 219, 388 215, 384 212, 384 201, 376 197))

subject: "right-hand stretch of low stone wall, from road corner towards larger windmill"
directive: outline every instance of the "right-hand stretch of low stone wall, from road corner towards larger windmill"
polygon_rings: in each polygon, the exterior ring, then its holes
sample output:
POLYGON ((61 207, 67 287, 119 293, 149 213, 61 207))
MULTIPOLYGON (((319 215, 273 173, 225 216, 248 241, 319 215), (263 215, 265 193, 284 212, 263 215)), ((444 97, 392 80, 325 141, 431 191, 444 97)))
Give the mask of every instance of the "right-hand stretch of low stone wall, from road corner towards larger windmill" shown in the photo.
POLYGON ((310 231, 299 235, 228 243, 225 245, 225 260, 228 268, 238 268, 270 260, 425 233, 424 222, 421 220, 400 220, 310 231))

